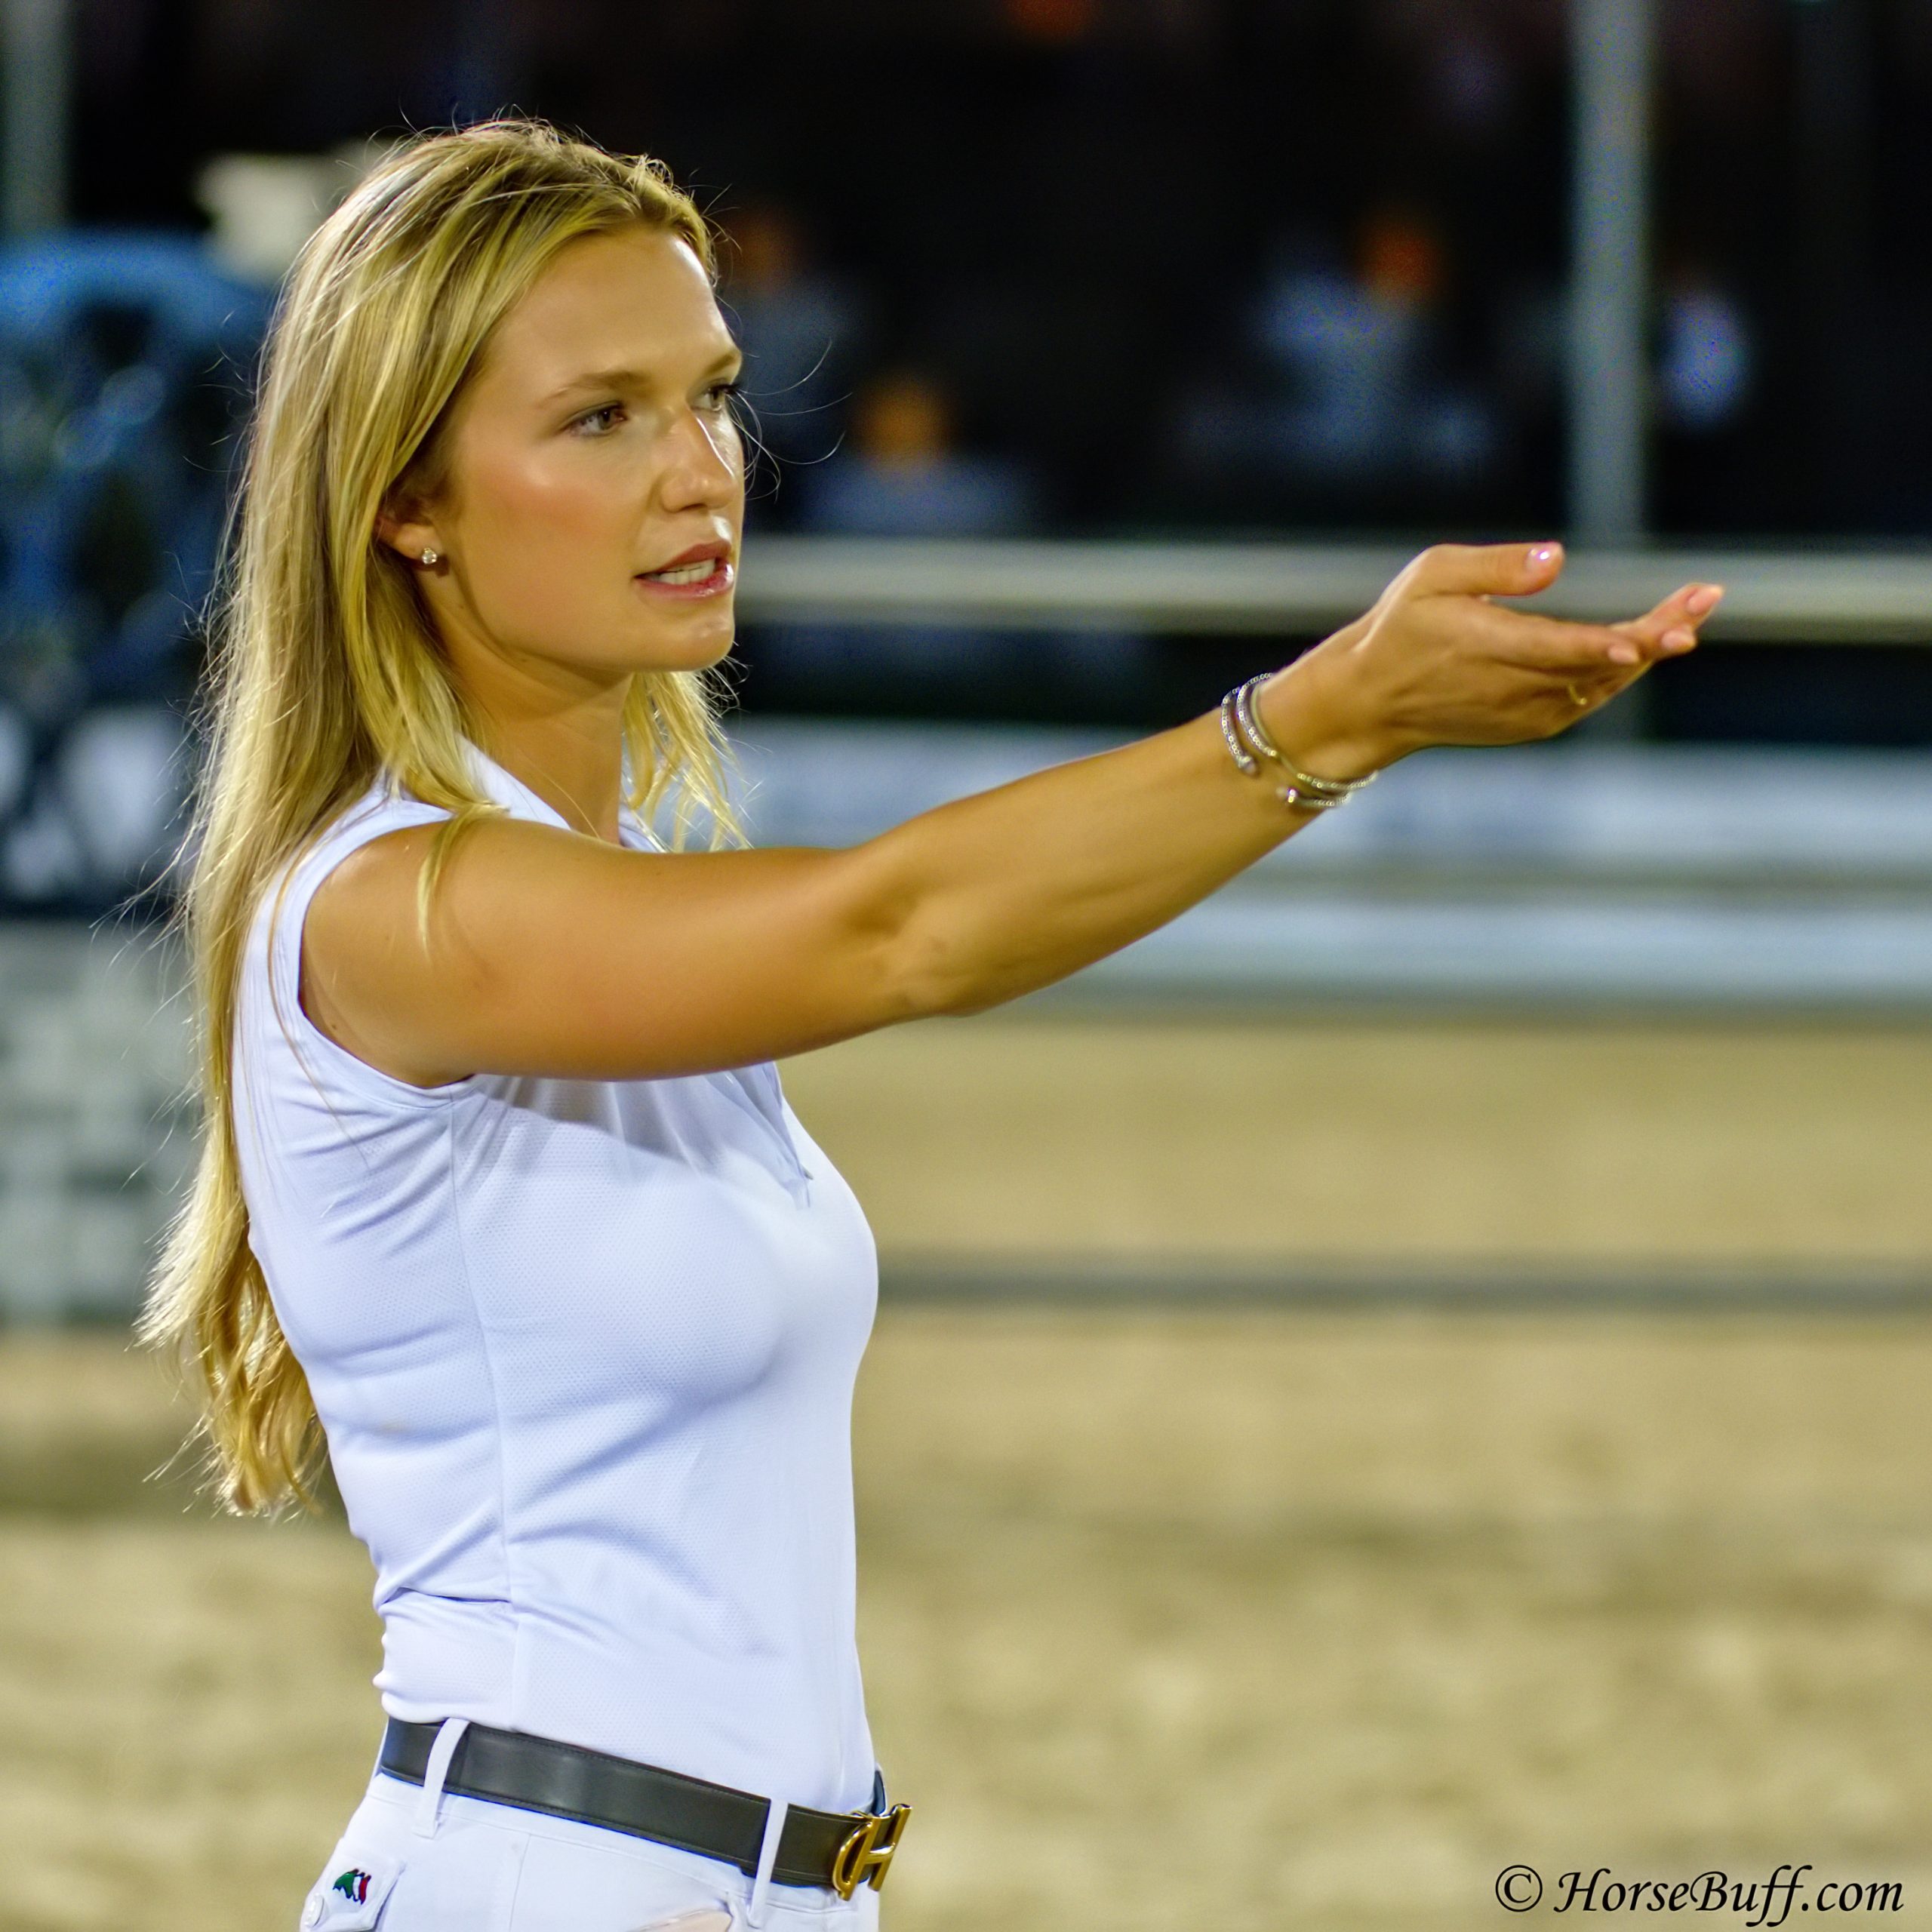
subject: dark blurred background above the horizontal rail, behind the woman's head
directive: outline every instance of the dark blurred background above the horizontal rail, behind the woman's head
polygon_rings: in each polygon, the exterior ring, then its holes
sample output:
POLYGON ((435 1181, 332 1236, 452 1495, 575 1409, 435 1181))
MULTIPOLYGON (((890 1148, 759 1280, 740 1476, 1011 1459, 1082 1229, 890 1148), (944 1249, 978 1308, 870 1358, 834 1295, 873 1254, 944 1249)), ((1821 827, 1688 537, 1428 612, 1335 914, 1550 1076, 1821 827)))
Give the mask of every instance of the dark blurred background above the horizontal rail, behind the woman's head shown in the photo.
MULTIPOLYGON (((1922 535, 1932 4, 1667 0, 1656 62, 1652 526, 1922 535)), ((1548 0, 91 0, 70 205, 514 106, 734 234, 786 456, 918 379, 989 524, 1544 529, 1571 71, 1548 0)))

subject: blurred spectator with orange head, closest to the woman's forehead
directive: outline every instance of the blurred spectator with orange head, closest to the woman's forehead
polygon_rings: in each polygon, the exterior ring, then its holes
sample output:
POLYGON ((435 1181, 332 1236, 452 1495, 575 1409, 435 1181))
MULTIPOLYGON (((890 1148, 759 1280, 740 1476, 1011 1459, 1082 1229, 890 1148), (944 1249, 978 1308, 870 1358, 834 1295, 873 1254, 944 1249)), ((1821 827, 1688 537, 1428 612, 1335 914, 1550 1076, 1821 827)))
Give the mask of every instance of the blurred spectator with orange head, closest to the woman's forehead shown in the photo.
MULTIPOLYGON (((724 315, 744 350, 744 396, 759 442, 786 462, 821 462, 838 444, 864 350, 860 298, 815 269, 790 213, 757 201, 724 216, 724 315)), ((786 512, 781 493, 779 512, 786 512)))

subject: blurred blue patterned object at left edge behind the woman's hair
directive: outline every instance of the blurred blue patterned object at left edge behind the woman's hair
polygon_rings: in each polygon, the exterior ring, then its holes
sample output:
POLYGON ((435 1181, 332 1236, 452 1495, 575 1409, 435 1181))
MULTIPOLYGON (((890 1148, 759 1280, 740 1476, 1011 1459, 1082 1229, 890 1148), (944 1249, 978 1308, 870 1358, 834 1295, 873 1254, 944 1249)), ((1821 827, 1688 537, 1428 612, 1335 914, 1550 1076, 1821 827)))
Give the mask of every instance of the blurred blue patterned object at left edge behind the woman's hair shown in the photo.
POLYGON ((25 738, 0 840, 68 808, 54 773, 91 707, 189 680, 270 301, 193 236, 0 247, 0 711, 25 738))

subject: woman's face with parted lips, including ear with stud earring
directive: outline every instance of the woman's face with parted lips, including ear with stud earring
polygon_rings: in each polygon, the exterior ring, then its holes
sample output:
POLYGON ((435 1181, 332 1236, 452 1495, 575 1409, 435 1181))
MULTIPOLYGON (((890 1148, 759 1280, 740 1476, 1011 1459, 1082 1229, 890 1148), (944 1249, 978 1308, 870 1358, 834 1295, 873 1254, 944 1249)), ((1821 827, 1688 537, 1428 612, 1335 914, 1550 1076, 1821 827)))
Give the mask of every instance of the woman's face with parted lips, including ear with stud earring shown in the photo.
POLYGON ((605 688, 730 649, 738 363, 688 243, 564 247, 458 400, 437 498, 384 522, 406 556, 440 553, 419 583, 460 674, 605 688))

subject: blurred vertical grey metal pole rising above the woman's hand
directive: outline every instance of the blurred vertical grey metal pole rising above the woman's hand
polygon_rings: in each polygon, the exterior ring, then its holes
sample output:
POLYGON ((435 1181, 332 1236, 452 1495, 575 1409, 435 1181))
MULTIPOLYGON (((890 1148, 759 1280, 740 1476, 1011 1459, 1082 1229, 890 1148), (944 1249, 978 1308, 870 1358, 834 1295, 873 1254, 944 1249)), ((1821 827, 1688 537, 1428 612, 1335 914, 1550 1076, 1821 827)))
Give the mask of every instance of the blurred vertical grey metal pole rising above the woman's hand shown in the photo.
POLYGON ((1571 8, 1569 522, 1586 545, 1631 543, 1644 531, 1654 6, 1573 0, 1571 8))

